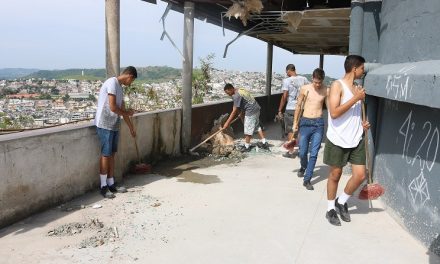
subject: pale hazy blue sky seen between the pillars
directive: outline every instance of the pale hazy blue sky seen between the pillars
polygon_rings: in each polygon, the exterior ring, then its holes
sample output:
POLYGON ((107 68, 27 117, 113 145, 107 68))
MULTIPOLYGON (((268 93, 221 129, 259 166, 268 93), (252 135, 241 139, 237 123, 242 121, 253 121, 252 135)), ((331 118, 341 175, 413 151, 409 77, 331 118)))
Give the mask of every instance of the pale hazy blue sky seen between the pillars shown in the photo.
MULTIPOLYGON (((0 0, 0 68, 105 68, 105 0, 0 0)), ((133 65, 182 68, 180 53, 164 38, 162 17, 166 3, 121 0, 121 67, 133 65)), ((183 47, 183 14, 170 11, 166 30, 183 47)), ((237 33, 195 19, 194 66, 214 54, 213 67, 239 71, 266 71, 267 44, 243 36, 223 53, 237 33)), ((343 56, 325 56, 326 75, 343 76, 343 56)), ((299 74, 319 66, 318 55, 294 55, 274 47, 274 72, 293 63, 299 74)))

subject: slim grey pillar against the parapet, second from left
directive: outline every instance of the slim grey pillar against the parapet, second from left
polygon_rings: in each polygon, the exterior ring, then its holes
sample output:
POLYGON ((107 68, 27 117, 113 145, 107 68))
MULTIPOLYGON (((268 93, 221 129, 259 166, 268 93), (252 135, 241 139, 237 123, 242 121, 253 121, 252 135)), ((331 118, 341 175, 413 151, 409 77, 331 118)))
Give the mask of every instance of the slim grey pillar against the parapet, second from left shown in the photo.
POLYGON ((183 23, 182 65, 182 150, 191 146, 192 70, 194 42, 194 3, 185 2, 183 23))

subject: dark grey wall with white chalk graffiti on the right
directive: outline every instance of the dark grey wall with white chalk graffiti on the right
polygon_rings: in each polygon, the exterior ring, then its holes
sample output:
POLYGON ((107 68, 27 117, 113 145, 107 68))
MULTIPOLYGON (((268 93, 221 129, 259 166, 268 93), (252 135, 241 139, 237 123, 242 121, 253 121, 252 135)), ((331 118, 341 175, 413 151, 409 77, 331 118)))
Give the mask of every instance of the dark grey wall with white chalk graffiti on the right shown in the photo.
POLYGON ((440 1, 356 2, 361 55, 378 63, 364 80, 376 120, 373 175, 396 219, 440 254, 440 1))

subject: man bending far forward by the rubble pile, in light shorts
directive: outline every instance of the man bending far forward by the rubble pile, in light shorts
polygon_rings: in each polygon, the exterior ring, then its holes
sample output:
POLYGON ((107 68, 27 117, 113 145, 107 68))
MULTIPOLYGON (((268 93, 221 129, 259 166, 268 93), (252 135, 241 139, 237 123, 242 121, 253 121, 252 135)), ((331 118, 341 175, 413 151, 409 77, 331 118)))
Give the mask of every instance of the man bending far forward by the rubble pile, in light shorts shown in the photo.
POLYGON ((266 142, 264 131, 260 126, 260 105, 258 105, 255 98, 252 97, 249 91, 243 88, 235 89, 230 83, 225 85, 224 90, 227 95, 232 97, 234 105, 232 107, 232 112, 222 129, 228 128, 232 120, 234 120, 238 114, 244 114, 243 126, 245 143, 241 151, 249 152, 251 150, 251 138, 256 131, 258 131, 261 139, 261 142, 259 142, 257 146, 263 149, 269 149, 269 144, 266 142))

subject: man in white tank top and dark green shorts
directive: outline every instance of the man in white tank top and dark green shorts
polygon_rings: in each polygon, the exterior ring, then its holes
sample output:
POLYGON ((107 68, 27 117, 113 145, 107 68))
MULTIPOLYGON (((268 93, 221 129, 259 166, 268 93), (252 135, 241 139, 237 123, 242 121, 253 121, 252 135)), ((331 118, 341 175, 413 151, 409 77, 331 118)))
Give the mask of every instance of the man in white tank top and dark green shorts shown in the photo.
POLYGON ((355 85, 354 80, 364 74, 365 59, 349 55, 345 59, 345 75, 332 83, 328 98, 328 128, 324 148, 324 163, 330 166, 327 179, 328 209, 326 218, 333 225, 341 225, 338 214, 350 222, 347 200, 365 180, 365 147, 362 137, 370 124, 362 121, 361 106, 365 89, 355 85), (342 168, 351 163, 352 176, 342 194, 336 198, 342 168), (336 199, 335 199, 336 198, 336 199))

